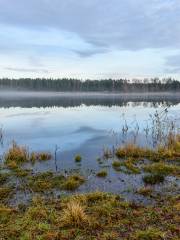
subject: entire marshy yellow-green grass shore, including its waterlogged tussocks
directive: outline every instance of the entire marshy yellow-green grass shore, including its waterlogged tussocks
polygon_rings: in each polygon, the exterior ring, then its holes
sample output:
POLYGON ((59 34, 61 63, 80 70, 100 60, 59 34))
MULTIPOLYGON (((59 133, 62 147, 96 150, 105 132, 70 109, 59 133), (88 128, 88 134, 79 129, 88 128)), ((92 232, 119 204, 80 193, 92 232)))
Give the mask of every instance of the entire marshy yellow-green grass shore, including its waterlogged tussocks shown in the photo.
MULTIPOLYGON (((169 137, 166 146, 156 149, 128 144, 115 149, 115 154, 108 150, 103 159, 95 161, 97 169, 100 163, 109 166, 108 172, 101 165, 101 171, 96 170, 88 176, 82 174, 81 169, 76 173, 73 170, 71 173, 35 172, 35 163, 53 160, 51 154, 30 153, 27 148, 13 144, 4 155, 3 171, 0 172, 1 238, 177 240, 180 199, 176 192, 174 195, 161 192, 161 187, 165 187, 169 176, 179 178, 179 141, 178 135, 169 137), (98 181, 104 184, 109 181, 110 174, 116 176, 114 182, 120 178, 117 183, 121 185, 130 178, 134 183, 139 181, 136 189, 128 186, 130 194, 143 200, 152 199, 152 202, 140 204, 101 191, 75 194, 81 186, 88 185, 89 178, 93 179, 93 184, 98 181), (19 192, 25 197, 29 194, 28 201, 13 202, 19 192)), ((81 159, 76 155, 72 162, 81 159)))

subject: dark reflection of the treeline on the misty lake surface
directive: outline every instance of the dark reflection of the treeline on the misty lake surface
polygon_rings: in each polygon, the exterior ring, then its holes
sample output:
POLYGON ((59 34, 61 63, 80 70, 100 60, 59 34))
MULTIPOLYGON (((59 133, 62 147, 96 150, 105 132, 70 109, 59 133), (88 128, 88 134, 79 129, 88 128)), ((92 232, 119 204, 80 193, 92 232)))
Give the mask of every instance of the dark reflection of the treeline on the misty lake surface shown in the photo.
POLYGON ((41 97, 41 98, 16 98, 16 99, 0 99, 0 107, 76 107, 81 106, 82 104, 86 106, 142 106, 142 107, 153 107, 158 106, 169 107, 172 105, 177 105, 180 103, 180 100, 170 100, 170 99, 156 99, 153 98, 143 99, 138 97, 135 99, 131 98, 111 98, 111 97, 41 97))

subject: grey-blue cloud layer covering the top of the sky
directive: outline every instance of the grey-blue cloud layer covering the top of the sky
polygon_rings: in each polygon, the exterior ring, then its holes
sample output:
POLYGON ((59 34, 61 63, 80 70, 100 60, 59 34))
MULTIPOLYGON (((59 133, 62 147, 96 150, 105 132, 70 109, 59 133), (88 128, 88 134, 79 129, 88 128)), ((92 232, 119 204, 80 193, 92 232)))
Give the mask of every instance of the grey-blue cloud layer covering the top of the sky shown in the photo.
POLYGON ((0 22, 75 32, 96 47, 180 46, 179 0, 1 0, 0 22))

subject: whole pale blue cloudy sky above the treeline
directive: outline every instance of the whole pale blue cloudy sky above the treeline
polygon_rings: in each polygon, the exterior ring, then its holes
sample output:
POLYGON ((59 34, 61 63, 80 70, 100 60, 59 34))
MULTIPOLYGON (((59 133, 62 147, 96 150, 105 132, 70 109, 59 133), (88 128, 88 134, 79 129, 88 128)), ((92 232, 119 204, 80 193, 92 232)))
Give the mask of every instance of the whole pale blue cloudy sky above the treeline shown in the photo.
POLYGON ((0 0, 0 78, 180 80, 179 0, 0 0))

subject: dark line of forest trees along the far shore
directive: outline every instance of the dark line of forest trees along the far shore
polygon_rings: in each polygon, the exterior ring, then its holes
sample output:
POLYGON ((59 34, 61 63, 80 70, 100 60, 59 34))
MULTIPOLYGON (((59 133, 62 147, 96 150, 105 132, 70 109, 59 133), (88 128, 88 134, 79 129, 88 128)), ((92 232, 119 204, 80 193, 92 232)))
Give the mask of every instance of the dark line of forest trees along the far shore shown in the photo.
POLYGON ((107 79, 0 79, 0 90, 79 91, 79 92, 167 92, 180 91, 180 82, 171 78, 144 80, 107 79))

